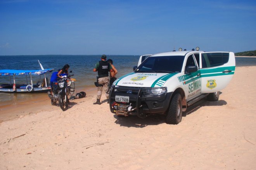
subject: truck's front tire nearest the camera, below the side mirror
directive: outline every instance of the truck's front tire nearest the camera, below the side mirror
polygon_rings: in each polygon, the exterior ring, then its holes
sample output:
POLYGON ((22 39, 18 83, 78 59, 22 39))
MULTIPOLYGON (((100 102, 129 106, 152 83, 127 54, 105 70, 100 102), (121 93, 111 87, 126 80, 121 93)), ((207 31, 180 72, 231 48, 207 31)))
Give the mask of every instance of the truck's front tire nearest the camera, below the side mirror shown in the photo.
POLYGON ((166 113, 167 124, 178 124, 182 120, 182 97, 179 93, 171 99, 170 107, 166 113))

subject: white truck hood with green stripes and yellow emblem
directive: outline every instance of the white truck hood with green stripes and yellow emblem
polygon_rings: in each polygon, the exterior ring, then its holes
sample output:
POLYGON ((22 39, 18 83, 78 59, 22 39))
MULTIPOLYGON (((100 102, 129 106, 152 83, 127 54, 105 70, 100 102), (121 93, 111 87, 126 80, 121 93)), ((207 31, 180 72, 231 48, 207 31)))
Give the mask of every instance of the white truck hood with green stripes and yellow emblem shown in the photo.
POLYGON ((129 73, 118 78, 113 85, 128 87, 163 87, 177 73, 129 73))

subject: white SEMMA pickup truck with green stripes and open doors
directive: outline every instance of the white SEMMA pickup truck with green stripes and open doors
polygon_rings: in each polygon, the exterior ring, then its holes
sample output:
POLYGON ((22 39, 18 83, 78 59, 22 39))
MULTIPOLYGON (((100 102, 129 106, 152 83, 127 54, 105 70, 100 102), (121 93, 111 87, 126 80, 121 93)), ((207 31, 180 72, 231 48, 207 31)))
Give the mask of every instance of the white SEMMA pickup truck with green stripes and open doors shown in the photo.
POLYGON ((113 83, 109 107, 118 116, 165 114, 166 123, 178 124, 182 112, 198 100, 217 101, 234 72, 233 52, 153 54, 113 83))

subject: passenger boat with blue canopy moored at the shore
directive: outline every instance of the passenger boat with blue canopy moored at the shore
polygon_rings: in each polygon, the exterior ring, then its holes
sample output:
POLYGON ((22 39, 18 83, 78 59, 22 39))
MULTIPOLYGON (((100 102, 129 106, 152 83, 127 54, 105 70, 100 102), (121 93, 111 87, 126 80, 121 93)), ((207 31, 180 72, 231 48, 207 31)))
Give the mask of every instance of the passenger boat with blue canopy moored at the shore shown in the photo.
MULTIPOLYGON (((1 76, 9 76, 10 83, 0 83, 0 92, 47 92, 51 89, 46 73, 52 72, 54 68, 44 69, 38 60, 41 70, 0 70, 1 76), (25 76, 26 83, 17 84, 16 76, 25 76), (42 80, 39 79, 33 84, 32 75, 44 75, 42 80), (28 81, 28 76, 30 80, 28 81), (13 83, 12 83, 13 77, 13 83)), ((20 78, 19 78, 20 79, 20 78)))

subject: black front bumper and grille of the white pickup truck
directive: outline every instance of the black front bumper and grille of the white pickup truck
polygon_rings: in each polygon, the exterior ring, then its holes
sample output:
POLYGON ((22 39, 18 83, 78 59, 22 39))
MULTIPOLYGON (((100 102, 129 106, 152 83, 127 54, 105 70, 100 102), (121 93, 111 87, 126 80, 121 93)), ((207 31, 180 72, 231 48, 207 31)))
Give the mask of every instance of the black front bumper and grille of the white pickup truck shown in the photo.
POLYGON ((164 93, 162 95, 153 96, 147 93, 150 87, 111 87, 109 94, 109 107, 112 113, 118 114, 117 106, 126 105, 135 108, 132 111, 126 112, 124 115, 137 115, 144 118, 147 114, 164 114, 168 109, 172 92, 164 93), (129 96, 129 102, 116 102, 115 96, 129 96))

